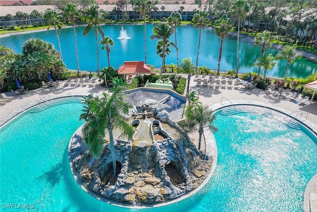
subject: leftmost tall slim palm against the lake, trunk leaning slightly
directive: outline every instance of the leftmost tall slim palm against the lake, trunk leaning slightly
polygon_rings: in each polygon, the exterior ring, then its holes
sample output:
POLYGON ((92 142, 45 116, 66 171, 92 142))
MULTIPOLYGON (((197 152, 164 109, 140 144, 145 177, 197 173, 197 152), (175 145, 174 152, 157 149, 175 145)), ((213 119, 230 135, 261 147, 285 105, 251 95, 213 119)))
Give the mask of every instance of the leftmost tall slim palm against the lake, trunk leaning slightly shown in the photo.
POLYGON ((48 29, 50 29, 51 26, 54 27, 55 29, 55 35, 57 38, 57 43, 58 43, 58 48, 59 48, 59 56, 60 56, 60 60, 63 61, 63 57, 61 54, 61 48, 60 48, 60 42, 59 42, 59 36, 57 33, 57 28, 61 29, 63 23, 61 22, 61 15, 59 15, 59 13, 55 10, 52 9, 47 9, 44 13, 44 18, 46 19, 46 24, 48 25, 48 29))

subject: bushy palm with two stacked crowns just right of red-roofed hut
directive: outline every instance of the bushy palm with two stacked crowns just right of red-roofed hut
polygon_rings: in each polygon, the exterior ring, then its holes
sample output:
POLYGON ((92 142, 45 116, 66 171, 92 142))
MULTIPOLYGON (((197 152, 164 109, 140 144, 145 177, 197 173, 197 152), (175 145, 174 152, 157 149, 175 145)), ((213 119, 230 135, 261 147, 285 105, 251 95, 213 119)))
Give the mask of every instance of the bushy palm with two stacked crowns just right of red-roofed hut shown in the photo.
POLYGON ((163 58, 162 67, 160 71, 160 73, 162 74, 162 71, 165 70, 166 54, 170 53, 169 46, 174 47, 177 51, 176 45, 169 40, 169 37, 174 33, 174 29, 168 24, 168 22, 164 21, 157 24, 153 28, 153 33, 154 35, 152 35, 150 39, 159 39, 157 45, 157 53, 161 58, 163 58))

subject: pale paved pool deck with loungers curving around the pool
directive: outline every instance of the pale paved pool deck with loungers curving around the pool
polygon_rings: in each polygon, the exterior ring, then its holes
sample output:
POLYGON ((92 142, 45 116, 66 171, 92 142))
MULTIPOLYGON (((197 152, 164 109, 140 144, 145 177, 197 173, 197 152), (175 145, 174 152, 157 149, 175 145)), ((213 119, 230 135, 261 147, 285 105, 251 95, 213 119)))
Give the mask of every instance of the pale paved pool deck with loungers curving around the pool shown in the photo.
MULTIPOLYGON (((288 99, 282 99, 278 96, 272 96, 264 93, 264 90, 259 88, 254 89, 221 89, 221 88, 211 88, 211 87, 203 87, 197 86, 197 81, 194 80, 195 77, 191 78, 190 87, 191 89, 200 90, 199 100, 212 107, 212 109, 220 108, 224 105, 233 104, 259 104, 265 107, 271 107, 274 109, 279 109, 286 114, 300 114, 303 112, 305 114, 304 118, 300 120, 309 125, 315 132, 317 132, 317 102, 313 101, 311 104, 296 104, 293 103, 293 100, 290 101, 288 99)), ((76 96, 76 95, 100 95, 103 92, 108 93, 108 88, 103 86, 95 85, 93 87, 82 87, 82 86, 64 86, 66 81, 60 81, 58 86, 56 87, 46 87, 39 88, 36 90, 26 91, 22 95, 14 95, 15 99, 11 102, 6 103, 5 105, 0 107, 0 127, 9 121, 12 117, 15 117, 19 113, 27 110, 28 108, 38 104, 40 99, 40 95, 49 95, 50 98, 58 98, 63 96, 76 96)), ((13 96, 12 92, 6 92, 7 96, 13 96)), ((48 98, 48 96, 47 96, 48 98)), ((205 135, 206 137, 206 135, 205 135)), ((207 139, 209 140, 209 139, 207 139)), ((210 146, 206 143, 206 150, 213 151, 209 149, 210 146)), ((317 211, 317 175, 315 175, 306 188, 305 200, 305 211, 306 212, 315 212, 317 211)))

